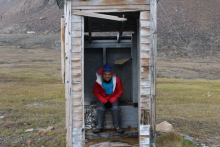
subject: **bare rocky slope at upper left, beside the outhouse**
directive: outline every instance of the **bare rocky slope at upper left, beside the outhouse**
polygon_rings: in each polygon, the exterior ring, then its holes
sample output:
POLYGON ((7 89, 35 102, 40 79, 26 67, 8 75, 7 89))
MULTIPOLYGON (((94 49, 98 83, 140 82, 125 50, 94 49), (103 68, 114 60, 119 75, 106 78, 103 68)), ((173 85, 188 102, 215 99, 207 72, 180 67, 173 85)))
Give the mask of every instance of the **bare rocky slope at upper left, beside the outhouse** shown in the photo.
POLYGON ((57 33, 62 14, 55 0, 0 0, 0 33, 57 33))

